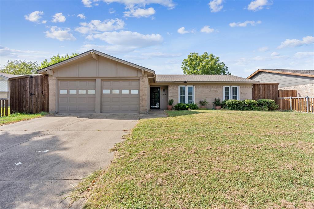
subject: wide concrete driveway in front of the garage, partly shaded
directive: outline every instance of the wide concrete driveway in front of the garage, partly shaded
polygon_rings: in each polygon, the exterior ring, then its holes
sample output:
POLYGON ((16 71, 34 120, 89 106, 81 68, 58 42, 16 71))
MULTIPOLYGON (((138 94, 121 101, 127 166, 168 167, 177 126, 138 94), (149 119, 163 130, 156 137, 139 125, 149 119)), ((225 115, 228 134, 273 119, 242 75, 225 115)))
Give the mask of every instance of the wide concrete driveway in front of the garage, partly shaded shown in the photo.
POLYGON ((57 195, 106 168, 113 159, 108 149, 138 119, 56 115, 0 126, 0 208, 67 207, 69 200, 57 195))

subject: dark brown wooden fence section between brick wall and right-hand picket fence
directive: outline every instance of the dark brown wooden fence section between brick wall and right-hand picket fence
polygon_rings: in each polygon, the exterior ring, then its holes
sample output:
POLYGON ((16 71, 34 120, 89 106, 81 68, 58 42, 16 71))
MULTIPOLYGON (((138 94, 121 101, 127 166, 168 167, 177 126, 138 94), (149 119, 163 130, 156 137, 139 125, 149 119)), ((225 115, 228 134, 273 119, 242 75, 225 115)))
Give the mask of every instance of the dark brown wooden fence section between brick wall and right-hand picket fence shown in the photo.
POLYGON ((252 89, 252 99, 273 99, 278 103, 279 83, 254 83, 252 89))

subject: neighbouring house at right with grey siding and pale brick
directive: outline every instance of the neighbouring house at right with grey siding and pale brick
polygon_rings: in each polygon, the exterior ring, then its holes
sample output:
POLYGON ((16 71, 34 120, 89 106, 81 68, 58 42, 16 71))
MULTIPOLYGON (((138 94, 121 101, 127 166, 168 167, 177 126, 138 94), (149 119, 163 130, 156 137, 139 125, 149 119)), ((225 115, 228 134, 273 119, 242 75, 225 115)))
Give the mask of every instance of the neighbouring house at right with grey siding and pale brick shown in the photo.
POLYGON ((297 90, 298 97, 314 97, 314 70, 258 69, 247 78, 279 83, 279 89, 297 90))

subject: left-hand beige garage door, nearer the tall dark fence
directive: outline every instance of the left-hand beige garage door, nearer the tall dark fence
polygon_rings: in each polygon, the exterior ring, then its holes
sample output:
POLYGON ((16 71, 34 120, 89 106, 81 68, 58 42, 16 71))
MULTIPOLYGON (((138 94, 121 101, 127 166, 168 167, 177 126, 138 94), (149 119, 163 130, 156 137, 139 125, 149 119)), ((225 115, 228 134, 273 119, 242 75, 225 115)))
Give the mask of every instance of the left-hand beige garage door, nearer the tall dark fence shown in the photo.
POLYGON ((95 113, 95 80, 58 80, 59 113, 95 113))

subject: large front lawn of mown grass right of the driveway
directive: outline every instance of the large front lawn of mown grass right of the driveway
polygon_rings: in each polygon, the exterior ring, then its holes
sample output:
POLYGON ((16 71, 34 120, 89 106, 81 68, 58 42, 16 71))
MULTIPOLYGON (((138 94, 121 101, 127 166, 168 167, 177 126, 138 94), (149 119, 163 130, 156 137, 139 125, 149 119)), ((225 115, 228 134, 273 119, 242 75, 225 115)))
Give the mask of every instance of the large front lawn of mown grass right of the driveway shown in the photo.
POLYGON ((87 197, 86 208, 313 208, 313 114, 168 114, 140 120, 72 199, 87 197))

